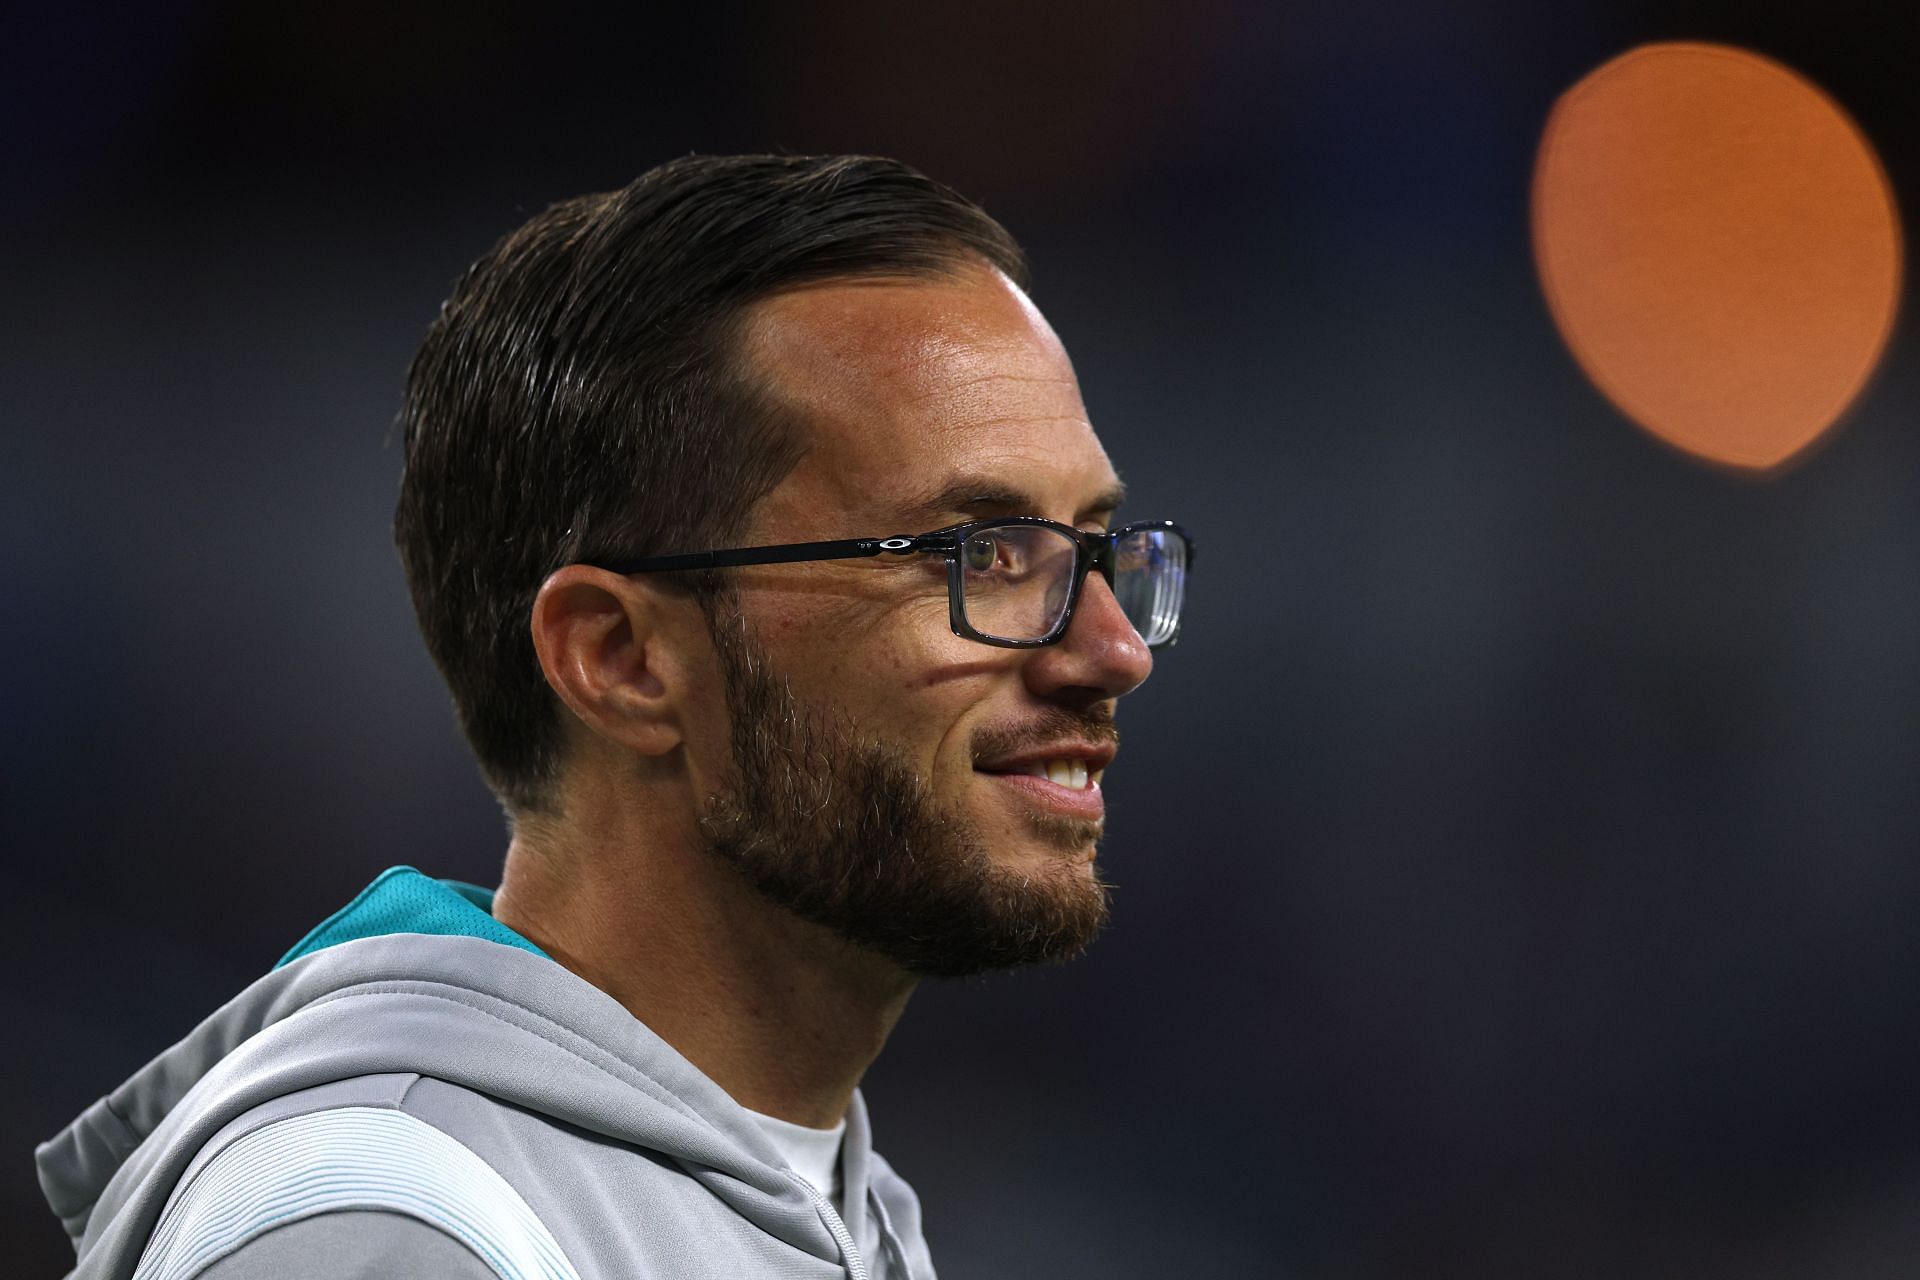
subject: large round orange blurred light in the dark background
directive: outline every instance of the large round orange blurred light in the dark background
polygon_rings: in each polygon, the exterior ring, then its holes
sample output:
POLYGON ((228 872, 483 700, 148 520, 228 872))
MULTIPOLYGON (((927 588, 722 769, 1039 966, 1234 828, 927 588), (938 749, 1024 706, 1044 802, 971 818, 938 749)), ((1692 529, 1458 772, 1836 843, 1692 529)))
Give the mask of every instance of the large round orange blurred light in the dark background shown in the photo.
POLYGON ((1820 88, 1718 44, 1647 44, 1553 107, 1534 259, 1561 336, 1626 416, 1778 466, 1859 397, 1893 330, 1901 225, 1820 88))

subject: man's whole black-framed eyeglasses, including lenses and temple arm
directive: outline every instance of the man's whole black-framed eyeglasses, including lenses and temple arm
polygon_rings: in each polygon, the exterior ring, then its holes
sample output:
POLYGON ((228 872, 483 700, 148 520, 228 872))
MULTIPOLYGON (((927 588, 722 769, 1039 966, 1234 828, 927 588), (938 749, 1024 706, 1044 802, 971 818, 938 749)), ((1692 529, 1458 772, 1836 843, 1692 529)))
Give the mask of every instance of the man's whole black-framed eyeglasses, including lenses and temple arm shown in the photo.
POLYGON ((1110 533, 1089 533, 1039 516, 1002 516, 950 524, 912 537, 689 551, 611 560, 597 568, 612 574, 664 574, 920 553, 947 558, 947 614, 954 635, 1004 649, 1058 643, 1073 622, 1087 570, 1100 570, 1119 601, 1119 612, 1150 649, 1171 645, 1181 633, 1187 570, 1194 560, 1192 539, 1171 520, 1142 520, 1110 533))

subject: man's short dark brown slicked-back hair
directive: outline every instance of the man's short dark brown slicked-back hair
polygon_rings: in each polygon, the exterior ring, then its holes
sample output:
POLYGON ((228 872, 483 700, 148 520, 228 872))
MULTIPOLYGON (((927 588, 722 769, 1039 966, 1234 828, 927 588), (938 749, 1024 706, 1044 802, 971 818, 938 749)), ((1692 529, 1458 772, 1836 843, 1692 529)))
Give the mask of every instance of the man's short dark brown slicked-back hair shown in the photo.
POLYGON ((739 357, 745 307, 939 276, 1012 236, 866 155, 691 155, 553 205, 474 263, 407 370, 394 539, 461 729, 509 812, 549 806, 561 722, 530 635, 563 564, 724 545, 804 441, 739 357))

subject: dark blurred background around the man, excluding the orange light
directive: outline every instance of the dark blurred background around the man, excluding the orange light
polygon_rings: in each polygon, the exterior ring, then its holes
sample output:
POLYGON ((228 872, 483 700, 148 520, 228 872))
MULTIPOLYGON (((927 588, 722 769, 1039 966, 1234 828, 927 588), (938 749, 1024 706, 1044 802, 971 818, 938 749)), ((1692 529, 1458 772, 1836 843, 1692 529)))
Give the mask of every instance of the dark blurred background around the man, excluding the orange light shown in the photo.
POLYGON ((1920 361, 1697 464, 1532 274, 1555 96, 1770 54, 1920 196, 1903 6, 67 4, 0 42, 0 1242, 31 1146, 378 869, 501 821, 388 518, 405 363, 545 203, 881 152, 1035 261, 1139 516, 1110 935, 868 1084, 948 1280, 1920 1259, 1920 361))

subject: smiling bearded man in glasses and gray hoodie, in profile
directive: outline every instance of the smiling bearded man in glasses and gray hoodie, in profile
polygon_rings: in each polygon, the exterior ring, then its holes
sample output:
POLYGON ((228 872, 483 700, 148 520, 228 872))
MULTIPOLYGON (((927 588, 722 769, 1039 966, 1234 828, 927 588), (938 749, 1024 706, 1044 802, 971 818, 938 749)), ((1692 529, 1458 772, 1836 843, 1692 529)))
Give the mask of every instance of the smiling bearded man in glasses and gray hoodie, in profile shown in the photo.
POLYGON ((394 869, 40 1151, 77 1274, 931 1276, 858 1080, 914 983, 1100 929, 1188 545, 985 213, 693 157, 476 263, 396 533, 513 829, 394 869))

